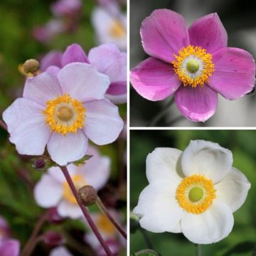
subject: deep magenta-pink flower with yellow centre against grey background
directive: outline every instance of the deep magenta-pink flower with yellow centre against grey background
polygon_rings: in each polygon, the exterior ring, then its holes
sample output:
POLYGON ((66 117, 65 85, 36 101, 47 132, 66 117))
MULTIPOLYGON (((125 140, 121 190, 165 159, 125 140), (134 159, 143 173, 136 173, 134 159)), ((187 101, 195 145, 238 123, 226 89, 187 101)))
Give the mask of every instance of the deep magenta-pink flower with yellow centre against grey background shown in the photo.
POLYGON ((178 110, 194 122, 215 113, 218 93, 235 100, 255 85, 255 60, 229 48, 218 14, 198 18, 187 28, 180 14, 154 11, 141 27, 142 46, 151 57, 132 69, 130 80, 147 100, 174 95, 178 110))

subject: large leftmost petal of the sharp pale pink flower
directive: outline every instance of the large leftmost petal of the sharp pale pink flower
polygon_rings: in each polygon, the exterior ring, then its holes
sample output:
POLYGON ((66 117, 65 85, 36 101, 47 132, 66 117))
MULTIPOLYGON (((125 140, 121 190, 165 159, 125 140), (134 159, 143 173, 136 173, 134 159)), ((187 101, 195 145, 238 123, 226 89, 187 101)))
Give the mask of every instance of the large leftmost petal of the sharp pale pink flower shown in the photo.
POLYGON ((42 107, 28 99, 18 98, 3 113, 4 122, 11 134, 10 141, 19 154, 41 155, 50 138, 42 107))

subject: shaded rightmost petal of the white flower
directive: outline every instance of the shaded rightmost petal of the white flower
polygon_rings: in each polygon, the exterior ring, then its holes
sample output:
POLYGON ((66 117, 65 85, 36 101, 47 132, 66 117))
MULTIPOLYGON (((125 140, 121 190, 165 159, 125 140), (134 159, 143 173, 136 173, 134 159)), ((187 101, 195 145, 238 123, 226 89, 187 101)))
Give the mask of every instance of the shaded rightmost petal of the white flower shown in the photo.
POLYGON ((235 212, 245 203, 250 182, 241 171, 233 167, 220 183, 215 184, 215 189, 217 199, 226 203, 235 212))

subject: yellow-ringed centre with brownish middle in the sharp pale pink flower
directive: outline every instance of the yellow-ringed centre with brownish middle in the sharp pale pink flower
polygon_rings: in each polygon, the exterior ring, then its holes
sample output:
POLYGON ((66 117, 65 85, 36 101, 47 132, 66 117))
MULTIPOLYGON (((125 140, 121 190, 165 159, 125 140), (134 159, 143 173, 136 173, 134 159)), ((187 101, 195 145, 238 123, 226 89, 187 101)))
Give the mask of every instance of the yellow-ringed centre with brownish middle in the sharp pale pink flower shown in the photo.
POLYGON ((65 136, 68 132, 77 132, 85 125, 85 107, 78 100, 65 94, 46 102, 46 124, 54 132, 65 136))

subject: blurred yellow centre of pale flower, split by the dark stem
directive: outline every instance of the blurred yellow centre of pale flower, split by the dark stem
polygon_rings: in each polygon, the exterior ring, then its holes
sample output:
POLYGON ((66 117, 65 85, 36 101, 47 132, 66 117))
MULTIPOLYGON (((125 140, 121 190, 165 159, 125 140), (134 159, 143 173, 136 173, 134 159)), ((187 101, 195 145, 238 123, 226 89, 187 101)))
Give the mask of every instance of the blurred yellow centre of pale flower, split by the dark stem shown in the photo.
MULTIPOLYGON (((82 176, 80 176, 78 174, 72 176, 72 180, 73 180, 73 183, 77 190, 87 184, 85 181, 85 178, 83 178, 82 176)), ((75 196, 73 196, 73 193, 72 193, 67 181, 65 181, 63 183, 63 198, 66 201, 68 201, 69 203, 77 204, 77 201, 75 200, 75 196)))

